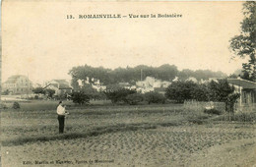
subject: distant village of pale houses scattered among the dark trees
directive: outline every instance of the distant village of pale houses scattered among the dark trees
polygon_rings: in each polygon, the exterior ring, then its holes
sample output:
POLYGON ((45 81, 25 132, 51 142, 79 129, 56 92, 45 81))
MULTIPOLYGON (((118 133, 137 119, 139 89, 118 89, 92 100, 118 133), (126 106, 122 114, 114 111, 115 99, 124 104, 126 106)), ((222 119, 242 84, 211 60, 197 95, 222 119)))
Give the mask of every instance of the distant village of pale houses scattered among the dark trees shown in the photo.
MULTIPOLYGON (((175 79, 176 80, 176 79, 175 79)), ((196 79, 189 79, 191 81, 197 82, 196 79)), ((88 81, 85 81, 84 83, 91 84, 93 88, 96 89, 96 91, 104 91, 106 90, 106 85, 103 83, 100 83, 99 80, 93 79, 93 83, 89 83, 88 81)), ((78 81, 79 86, 83 86, 82 81, 78 81)), ((158 79, 155 79, 153 77, 147 77, 144 81, 136 82, 136 84, 131 83, 118 83, 120 87, 127 88, 127 89, 135 89, 138 92, 149 92, 149 91, 158 91, 160 93, 164 93, 164 89, 171 84, 170 82, 166 81, 160 81, 158 79)), ((55 90, 55 96, 59 96, 64 93, 71 93, 72 91, 76 90, 71 85, 71 82, 67 80, 52 80, 49 82, 44 82, 43 84, 39 83, 32 83, 28 79, 27 76, 23 75, 17 75, 12 76, 8 78, 8 80, 4 83, 2 83, 2 94, 32 94, 33 88, 36 87, 42 87, 44 89, 49 88, 55 90)))

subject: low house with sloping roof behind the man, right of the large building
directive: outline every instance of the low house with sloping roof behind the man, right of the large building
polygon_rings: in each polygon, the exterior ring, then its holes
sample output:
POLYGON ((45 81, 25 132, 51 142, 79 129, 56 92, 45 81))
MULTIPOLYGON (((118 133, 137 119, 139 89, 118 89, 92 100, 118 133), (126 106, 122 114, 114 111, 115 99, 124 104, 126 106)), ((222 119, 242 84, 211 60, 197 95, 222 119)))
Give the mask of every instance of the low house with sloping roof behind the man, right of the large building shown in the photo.
POLYGON ((66 80, 52 80, 43 87, 55 90, 54 95, 61 96, 72 92, 72 86, 66 80))

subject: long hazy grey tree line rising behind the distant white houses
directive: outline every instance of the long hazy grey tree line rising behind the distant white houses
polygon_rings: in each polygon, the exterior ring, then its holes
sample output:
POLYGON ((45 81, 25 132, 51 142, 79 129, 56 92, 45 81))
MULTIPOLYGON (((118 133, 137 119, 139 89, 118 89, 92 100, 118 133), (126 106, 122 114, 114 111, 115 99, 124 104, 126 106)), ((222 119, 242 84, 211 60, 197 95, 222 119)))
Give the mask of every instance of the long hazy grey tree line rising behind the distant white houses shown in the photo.
POLYGON ((175 65, 164 64, 160 67, 152 67, 139 65, 134 68, 117 68, 114 70, 103 67, 92 67, 89 65, 73 67, 69 71, 72 77, 72 86, 79 87, 78 81, 94 83, 95 79, 99 80, 104 85, 113 83, 133 83, 145 80, 146 77, 154 77, 161 81, 171 82, 178 77, 179 80, 185 81, 193 77, 199 80, 208 80, 209 78, 224 78, 226 75, 223 72, 212 72, 210 70, 182 70, 178 71, 175 65))

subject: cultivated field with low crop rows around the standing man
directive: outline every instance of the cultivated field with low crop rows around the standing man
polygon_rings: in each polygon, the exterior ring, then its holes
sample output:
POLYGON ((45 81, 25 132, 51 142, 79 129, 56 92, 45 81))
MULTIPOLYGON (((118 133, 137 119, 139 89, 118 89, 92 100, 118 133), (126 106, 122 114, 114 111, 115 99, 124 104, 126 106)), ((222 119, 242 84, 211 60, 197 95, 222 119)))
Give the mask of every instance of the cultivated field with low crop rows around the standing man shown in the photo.
POLYGON ((215 116, 188 111, 178 104, 112 106, 96 102, 84 108, 70 105, 65 134, 59 135, 54 102, 46 109, 41 103, 36 107, 36 102, 26 105, 1 112, 4 167, 256 163, 256 113, 215 116))

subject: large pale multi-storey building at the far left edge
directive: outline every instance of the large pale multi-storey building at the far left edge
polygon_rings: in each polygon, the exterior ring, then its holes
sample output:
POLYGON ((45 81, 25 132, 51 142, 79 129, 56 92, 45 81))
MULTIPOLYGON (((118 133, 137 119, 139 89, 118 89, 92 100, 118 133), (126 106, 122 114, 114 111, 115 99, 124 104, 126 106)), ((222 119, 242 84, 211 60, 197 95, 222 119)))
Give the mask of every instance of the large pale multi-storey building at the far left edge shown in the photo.
POLYGON ((30 81, 27 76, 12 76, 3 83, 2 91, 8 91, 10 94, 32 93, 32 81, 30 81))

